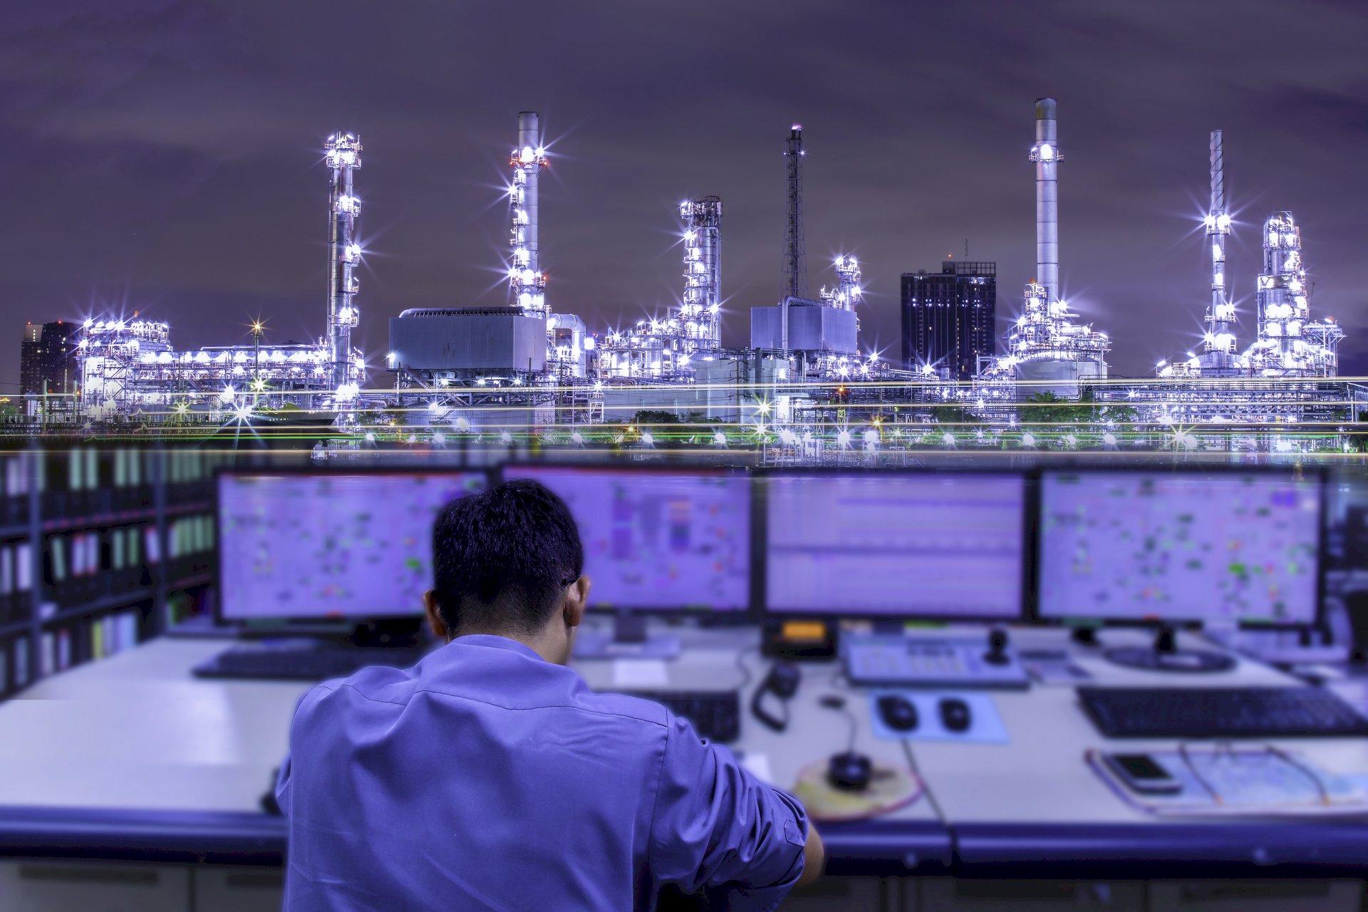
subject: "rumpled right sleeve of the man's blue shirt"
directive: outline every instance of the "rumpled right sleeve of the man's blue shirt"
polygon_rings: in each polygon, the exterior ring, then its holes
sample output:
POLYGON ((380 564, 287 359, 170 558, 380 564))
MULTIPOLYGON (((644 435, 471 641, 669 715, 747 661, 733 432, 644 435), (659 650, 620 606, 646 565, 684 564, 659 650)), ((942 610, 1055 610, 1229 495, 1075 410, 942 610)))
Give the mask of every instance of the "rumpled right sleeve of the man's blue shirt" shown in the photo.
POLYGON ((747 907, 770 909, 802 876, 806 842, 807 812, 796 799, 670 718, 651 820, 658 882, 687 893, 735 886, 747 907))

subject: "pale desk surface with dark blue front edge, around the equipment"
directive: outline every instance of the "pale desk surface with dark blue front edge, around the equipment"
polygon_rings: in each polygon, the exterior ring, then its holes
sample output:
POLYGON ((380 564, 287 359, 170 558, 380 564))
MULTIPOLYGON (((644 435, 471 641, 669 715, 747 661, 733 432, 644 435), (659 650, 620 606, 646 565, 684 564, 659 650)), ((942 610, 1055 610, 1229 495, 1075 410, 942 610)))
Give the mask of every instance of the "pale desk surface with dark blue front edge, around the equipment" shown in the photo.
MULTIPOLYGON (((1109 644, 1144 637, 1105 636, 1109 644)), ((763 677, 767 663, 754 649, 754 629, 687 632, 685 640, 684 656, 668 663, 668 686, 739 686, 741 665, 750 688, 763 677)), ((1051 629, 1016 632, 1014 644, 1068 648, 1100 684, 1291 682, 1248 660, 1216 675, 1118 669, 1051 629)), ((190 677, 190 667, 226 645, 212 639, 156 640, 47 678, 0 706, 0 852, 97 853, 100 845, 109 852, 124 845, 141 846, 142 855, 163 846, 168 857, 278 859, 283 824, 259 814, 257 803, 308 685, 190 677)), ((616 684, 610 662, 576 667, 591 686, 616 684)), ((776 785, 791 788, 803 766, 844 749, 847 719, 819 706, 825 693, 850 697, 859 751, 906 764, 902 744, 874 737, 866 696, 839 670, 834 663, 803 666, 785 734, 748 714, 743 718, 735 748, 767 766, 776 785)), ((1155 820, 1119 800, 1083 764, 1085 749, 1108 741, 1082 715, 1071 686, 1036 685, 995 692, 992 699, 1008 744, 914 742, 930 797, 876 822, 824 827, 832 855, 855 866, 960 874, 1082 875, 1096 868, 1119 876, 1144 875, 1144 866, 1175 872, 1185 863, 1201 863, 1207 874, 1270 872, 1270 866, 1279 874, 1368 870, 1368 819, 1275 826, 1155 820)), ((1368 773, 1368 738, 1285 744, 1327 768, 1368 773)))

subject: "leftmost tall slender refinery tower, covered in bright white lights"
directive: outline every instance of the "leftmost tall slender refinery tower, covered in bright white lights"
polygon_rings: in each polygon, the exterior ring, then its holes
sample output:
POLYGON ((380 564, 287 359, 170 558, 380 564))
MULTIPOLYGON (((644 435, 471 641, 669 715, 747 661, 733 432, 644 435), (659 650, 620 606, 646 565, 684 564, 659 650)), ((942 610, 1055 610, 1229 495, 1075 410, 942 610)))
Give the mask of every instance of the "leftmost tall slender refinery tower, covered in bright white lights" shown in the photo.
POLYGON ((361 246, 356 242, 353 172, 361 167, 361 138, 335 133, 323 145, 328 165, 328 361, 332 387, 339 398, 354 398, 358 371, 352 356, 352 330, 358 323, 353 297, 360 289, 356 267, 361 246), (350 394, 350 395, 349 395, 350 394))

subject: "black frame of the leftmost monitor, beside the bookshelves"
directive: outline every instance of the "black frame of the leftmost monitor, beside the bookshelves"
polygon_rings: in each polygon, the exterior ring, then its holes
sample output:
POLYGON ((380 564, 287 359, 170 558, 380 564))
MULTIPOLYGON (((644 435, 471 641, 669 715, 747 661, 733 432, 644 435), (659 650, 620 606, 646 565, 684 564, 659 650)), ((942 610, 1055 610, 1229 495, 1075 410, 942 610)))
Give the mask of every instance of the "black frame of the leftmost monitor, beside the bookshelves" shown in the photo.
POLYGON ((339 614, 339 615, 264 615, 257 618, 230 618, 224 615, 223 611, 223 526, 220 525, 222 517, 222 496, 223 496, 223 481, 226 477, 278 477, 278 476, 420 476, 420 474, 473 474, 483 476, 486 488, 495 484, 497 476, 483 466, 476 468, 440 468, 440 469, 421 469, 417 466, 394 466, 394 465, 368 465, 364 468, 328 468, 319 469, 317 466, 282 466, 278 469, 253 469, 253 468, 235 468, 227 466, 222 468, 213 474, 213 625, 216 628, 230 628, 242 632, 248 630, 290 630, 297 633, 324 633, 339 630, 350 625, 365 622, 365 621, 387 621, 387 619, 406 619, 423 617, 423 606, 415 606, 412 611, 402 611, 397 614, 339 614))

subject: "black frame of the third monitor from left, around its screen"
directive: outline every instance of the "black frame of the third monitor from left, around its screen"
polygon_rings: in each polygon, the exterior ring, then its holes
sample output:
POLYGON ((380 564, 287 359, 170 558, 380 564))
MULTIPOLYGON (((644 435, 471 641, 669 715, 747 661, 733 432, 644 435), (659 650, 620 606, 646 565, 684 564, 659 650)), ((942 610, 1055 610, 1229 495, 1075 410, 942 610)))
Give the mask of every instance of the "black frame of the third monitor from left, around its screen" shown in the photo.
POLYGON ((963 625, 1001 625, 1001 623, 1026 623, 1030 619, 1030 598, 1034 591, 1031 574, 1034 572, 1034 536, 1031 535, 1031 520, 1033 520, 1033 503, 1034 503, 1034 480, 1031 473, 1022 472, 1016 469, 999 469, 999 468, 947 468, 947 466, 925 466, 925 468, 904 468, 904 466, 871 466, 871 468, 850 468, 850 466, 785 466, 785 468, 767 468, 757 469, 752 472, 754 496, 757 500, 755 514, 761 522, 757 529, 758 551, 757 561, 761 567, 758 574, 758 588, 759 595, 757 603, 759 606, 759 613, 762 617, 769 619, 784 619, 784 621, 824 621, 826 623, 839 623, 841 621, 870 621, 870 622, 889 622, 889 623, 963 623, 963 625), (891 611, 874 611, 874 610, 852 610, 852 611, 795 611, 791 608, 772 608, 769 604, 769 479, 776 477, 818 477, 818 476, 897 476, 897 477, 934 477, 934 476, 962 476, 962 477, 992 477, 992 479, 1016 479, 1022 484, 1022 526, 1021 526, 1021 541, 1022 541, 1022 569, 1021 569, 1021 588, 1019 588, 1019 603, 1018 608, 1012 614, 982 614, 975 617, 964 617, 962 614, 938 614, 938 613, 891 613, 891 611))

